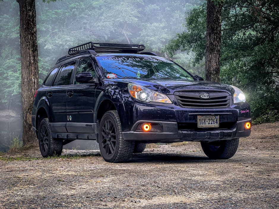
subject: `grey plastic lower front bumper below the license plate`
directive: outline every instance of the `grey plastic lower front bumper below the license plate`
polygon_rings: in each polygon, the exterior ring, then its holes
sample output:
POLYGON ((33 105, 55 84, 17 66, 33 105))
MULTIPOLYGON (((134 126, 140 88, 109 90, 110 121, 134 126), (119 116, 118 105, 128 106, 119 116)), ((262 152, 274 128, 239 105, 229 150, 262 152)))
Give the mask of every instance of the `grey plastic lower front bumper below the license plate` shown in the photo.
POLYGON ((237 121, 230 128, 214 130, 183 130, 178 129, 176 122, 165 121, 137 121, 132 127, 132 131, 123 132, 123 138, 127 141, 144 141, 146 143, 170 143, 182 141, 217 141, 229 140, 232 138, 248 137, 250 130, 245 130, 245 123, 251 122, 251 119, 237 121), (162 132, 142 132, 137 131, 136 127, 142 122, 155 122, 160 124, 162 132))

